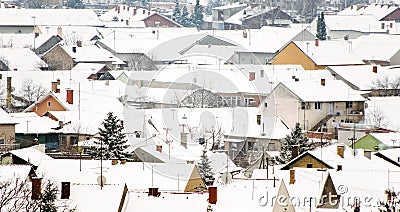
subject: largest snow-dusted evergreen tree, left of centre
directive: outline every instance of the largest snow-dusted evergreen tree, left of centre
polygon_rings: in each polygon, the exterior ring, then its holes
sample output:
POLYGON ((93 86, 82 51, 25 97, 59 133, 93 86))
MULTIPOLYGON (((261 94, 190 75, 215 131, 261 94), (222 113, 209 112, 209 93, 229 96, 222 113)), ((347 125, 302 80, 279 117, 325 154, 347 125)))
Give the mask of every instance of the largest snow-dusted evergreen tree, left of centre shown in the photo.
POLYGON ((102 146, 97 148, 92 155, 103 159, 111 158, 127 158, 131 153, 126 152, 129 147, 125 133, 123 133, 124 125, 122 120, 118 119, 112 112, 107 114, 107 118, 102 122, 102 128, 99 128, 100 138, 96 144, 102 146))

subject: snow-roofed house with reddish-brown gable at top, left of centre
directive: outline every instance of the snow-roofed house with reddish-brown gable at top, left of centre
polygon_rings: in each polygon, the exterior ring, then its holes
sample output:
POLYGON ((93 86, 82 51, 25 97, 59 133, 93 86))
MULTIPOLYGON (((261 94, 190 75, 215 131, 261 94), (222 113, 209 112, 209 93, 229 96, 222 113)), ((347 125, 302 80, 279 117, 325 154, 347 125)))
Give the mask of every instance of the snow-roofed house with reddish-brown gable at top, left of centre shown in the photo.
POLYGON ((144 22, 145 27, 181 27, 180 24, 157 11, 128 5, 116 5, 99 18, 104 22, 120 22, 120 25, 125 27, 134 25, 135 22, 144 22))

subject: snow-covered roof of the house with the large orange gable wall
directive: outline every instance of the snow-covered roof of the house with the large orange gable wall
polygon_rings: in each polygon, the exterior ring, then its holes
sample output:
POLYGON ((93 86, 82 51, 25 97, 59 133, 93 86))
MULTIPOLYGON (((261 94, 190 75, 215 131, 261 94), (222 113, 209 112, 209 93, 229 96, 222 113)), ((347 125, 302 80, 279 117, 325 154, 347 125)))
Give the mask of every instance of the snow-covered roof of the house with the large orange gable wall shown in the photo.
POLYGON ((351 51, 351 44, 341 40, 319 41, 318 46, 310 41, 293 41, 316 65, 362 65, 359 56, 351 51))

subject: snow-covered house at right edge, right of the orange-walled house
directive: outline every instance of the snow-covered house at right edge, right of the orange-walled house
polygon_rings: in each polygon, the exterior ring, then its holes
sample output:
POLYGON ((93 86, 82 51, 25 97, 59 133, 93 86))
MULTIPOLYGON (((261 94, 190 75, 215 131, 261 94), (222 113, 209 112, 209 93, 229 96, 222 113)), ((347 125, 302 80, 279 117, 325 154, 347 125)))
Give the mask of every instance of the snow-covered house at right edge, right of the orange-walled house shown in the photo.
POLYGON ((399 35, 362 35, 352 41, 352 50, 366 64, 381 66, 400 65, 400 48, 395 45, 399 40, 399 35))

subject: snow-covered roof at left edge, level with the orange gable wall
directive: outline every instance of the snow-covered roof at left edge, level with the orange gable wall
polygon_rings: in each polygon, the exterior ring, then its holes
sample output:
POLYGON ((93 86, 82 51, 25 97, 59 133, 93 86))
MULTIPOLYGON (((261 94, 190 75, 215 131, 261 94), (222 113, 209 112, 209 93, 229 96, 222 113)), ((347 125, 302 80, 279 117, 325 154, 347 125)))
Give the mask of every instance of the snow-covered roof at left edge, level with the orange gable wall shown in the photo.
POLYGON ((7 61, 11 71, 39 71, 41 67, 47 67, 46 62, 29 48, 0 48, 0 57, 7 61))

